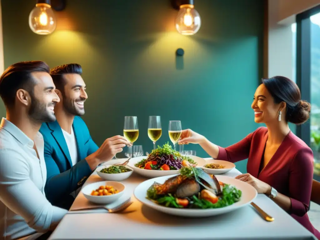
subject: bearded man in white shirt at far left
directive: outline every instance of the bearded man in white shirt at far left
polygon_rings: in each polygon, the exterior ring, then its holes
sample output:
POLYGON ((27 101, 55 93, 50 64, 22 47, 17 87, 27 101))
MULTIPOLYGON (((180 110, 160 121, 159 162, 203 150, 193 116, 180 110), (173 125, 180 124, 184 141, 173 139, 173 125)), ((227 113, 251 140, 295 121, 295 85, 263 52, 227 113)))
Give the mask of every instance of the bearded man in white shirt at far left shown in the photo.
POLYGON ((0 238, 54 229, 66 214, 46 199, 43 122, 55 121, 59 97, 42 61, 19 62, 0 77, 6 118, 0 124, 0 238))

